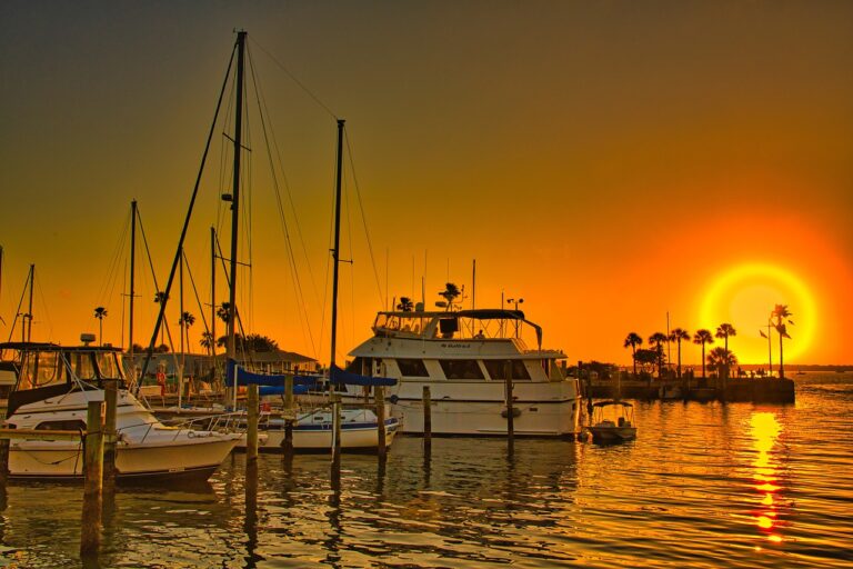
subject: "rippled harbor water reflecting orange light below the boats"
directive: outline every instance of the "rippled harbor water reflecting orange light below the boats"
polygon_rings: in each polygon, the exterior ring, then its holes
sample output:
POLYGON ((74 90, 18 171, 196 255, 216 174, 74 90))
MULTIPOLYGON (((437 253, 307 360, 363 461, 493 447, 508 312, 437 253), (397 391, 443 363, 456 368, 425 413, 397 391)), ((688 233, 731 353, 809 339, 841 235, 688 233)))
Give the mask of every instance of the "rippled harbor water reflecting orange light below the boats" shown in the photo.
MULTIPOLYGON (((200 488, 120 489, 87 567, 850 567, 853 375, 795 406, 638 403, 635 441, 400 437, 384 469, 243 456, 200 488)), ((79 486, 0 493, 0 566, 80 567, 79 486)))

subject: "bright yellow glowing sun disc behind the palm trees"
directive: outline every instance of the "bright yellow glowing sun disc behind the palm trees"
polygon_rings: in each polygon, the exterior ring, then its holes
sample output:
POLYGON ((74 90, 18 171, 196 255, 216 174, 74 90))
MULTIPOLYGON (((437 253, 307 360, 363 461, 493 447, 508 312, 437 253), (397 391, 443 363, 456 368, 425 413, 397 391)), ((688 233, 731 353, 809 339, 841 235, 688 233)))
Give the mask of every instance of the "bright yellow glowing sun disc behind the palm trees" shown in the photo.
MULTIPOLYGON (((789 326, 791 340, 785 340, 785 361, 806 353, 812 343, 816 307, 805 283, 792 272, 767 263, 745 263, 727 270, 711 283, 702 301, 700 321, 712 332, 722 322, 730 322, 737 336, 729 348, 739 361, 767 361, 767 318, 775 305, 787 305, 795 326, 789 326)), ((779 362, 779 337, 773 330, 774 366, 779 362)))

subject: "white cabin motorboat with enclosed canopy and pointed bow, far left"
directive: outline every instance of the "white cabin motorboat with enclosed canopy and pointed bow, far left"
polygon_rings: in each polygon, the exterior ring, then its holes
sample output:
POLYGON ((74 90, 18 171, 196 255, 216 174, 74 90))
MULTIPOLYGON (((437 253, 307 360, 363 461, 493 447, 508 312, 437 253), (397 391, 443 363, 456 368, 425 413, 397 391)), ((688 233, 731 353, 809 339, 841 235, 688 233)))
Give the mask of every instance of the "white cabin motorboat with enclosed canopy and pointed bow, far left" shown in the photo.
MULTIPOLYGON (((13 429, 86 430, 89 401, 103 401, 103 380, 118 379, 116 470, 119 480, 207 480, 241 435, 167 427, 128 389, 121 350, 6 343, 18 351, 18 379, 6 423, 13 429)), ((70 479, 83 475, 82 441, 12 440, 13 478, 70 479)))

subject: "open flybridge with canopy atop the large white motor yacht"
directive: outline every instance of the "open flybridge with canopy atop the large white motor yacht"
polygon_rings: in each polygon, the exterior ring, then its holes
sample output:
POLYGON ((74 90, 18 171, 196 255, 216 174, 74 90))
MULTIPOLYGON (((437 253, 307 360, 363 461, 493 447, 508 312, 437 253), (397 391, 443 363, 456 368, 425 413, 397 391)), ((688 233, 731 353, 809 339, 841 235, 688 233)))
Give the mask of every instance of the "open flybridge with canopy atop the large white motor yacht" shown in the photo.
POLYGON ((541 349, 542 328, 521 310, 390 311, 373 321, 377 336, 441 340, 520 340, 524 327, 535 331, 541 349))

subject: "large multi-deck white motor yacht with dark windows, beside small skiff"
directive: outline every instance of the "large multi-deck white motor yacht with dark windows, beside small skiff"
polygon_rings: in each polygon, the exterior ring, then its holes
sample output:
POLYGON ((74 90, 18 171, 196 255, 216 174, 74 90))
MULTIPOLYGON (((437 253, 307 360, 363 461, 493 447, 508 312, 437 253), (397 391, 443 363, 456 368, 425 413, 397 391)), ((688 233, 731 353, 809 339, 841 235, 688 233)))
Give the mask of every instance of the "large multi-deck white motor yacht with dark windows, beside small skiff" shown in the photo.
MULTIPOLYGON (((387 393, 402 432, 423 432, 429 386, 433 435, 505 436, 509 371, 515 435, 579 433, 578 381, 560 365, 565 355, 542 349, 542 329, 519 310, 379 312, 373 337, 350 356, 347 371, 398 380, 387 393), (523 339, 531 331, 535 349, 523 339)), ((347 389, 351 398, 364 396, 365 388, 347 389)))

